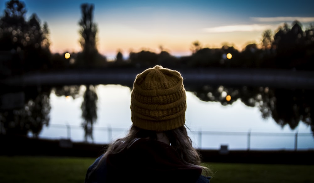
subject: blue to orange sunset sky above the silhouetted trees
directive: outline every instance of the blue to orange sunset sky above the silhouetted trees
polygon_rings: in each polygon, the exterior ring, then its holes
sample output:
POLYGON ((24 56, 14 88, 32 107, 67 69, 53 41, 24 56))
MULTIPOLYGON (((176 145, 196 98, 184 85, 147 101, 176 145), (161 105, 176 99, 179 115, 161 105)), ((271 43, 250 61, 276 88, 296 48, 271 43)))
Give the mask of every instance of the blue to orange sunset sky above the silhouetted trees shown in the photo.
MULTIPOLYGON (((4 14, 7 0, 0 0, 4 14)), ((98 27, 97 49, 109 60, 118 50, 124 57, 130 51, 161 48, 171 55, 191 55, 191 45, 221 48, 223 44, 242 50, 247 44, 260 44, 263 31, 275 32, 280 25, 300 21, 305 30, 314 24, 314 1, 284 0, 24 0, 26 19, 36 13, 50 30, 51 52, 78 52, 80 5, 94 4, 98 27)))

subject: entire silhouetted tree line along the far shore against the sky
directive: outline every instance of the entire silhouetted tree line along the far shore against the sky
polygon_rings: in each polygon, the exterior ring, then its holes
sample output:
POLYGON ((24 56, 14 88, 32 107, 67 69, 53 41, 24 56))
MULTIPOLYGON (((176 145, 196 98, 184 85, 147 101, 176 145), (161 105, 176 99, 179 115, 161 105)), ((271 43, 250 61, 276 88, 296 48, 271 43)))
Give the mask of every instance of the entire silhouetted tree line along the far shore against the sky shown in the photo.
POLYGON ((71 58, 65 58, 64 53, 51 53, 48 23, 42 24, 36 13, 27 19, 26 12, 22 1, 10 0, 0 18, 2 75, 72 68, 147 68, 157 64, 180 68, 314 69, 314 24, 303 31, 298 20, 291 26, 284 23, 276 31, 265 30, 261 43, 248 44, 241 51, 228 44, 221 48, 203 47, 201 41, 196 40, 191 44, 189 56, 176 57, 160 47, 159 53, 130 52, 127 59, 123 59, 119 50, 116 59, 108 61, 96 46, 98 28, 93 18, 93 4, 81 4, 82 16, 78 25, 82 51, 70 53, 71 58), (228 53, 232 58, 226 57, 228 53))

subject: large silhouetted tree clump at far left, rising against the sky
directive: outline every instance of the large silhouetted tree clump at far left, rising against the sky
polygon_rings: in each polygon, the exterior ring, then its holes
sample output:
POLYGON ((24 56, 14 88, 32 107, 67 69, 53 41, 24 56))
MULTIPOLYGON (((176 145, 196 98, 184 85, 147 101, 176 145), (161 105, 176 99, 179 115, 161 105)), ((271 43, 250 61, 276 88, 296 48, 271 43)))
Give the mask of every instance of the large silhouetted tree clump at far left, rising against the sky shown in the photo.
POLYGON ((45 24, 42 29, 35 13, 25 21, 25 14, 24 3, 11 0, 6 3, 4 15, 0 18, 0 51, 7 50, 12 55, 19 55, 9 60, 8 65, 13 73, 50 67, 49 46, 44 44, 42 48, 42 43, 49 36, 48 25, 45 24))

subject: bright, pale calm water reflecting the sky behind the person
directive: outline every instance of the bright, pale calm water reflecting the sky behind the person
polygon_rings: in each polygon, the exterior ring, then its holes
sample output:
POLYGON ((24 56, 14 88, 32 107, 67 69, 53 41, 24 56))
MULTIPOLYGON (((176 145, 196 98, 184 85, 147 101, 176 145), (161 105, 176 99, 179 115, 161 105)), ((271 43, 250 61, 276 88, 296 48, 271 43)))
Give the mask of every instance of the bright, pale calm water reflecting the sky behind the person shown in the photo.
MULTIPOLYGON (((81 92, 84 91, 82 86, 81 92)), ((108 143, 124 136, 132 124, 131 90, 121 85, 98 85, 96 92, 98 118, 94 143, 108 143)), ((52 92, 50 124, 44 127, 40 137, 84 141, 80 126, 82 101, 83 97, 57 97, 52 92)), ((257 107, 247 107, 240 100, 223 106, 201 101, 187 92, 186 125, 194 146, 201 149, 219 149, 221 145, 228 145, 229 149, 314 149, 311 129, 303 122, 294 130, 288 125, 282 128, 271 117, 263 119, 257 107)))

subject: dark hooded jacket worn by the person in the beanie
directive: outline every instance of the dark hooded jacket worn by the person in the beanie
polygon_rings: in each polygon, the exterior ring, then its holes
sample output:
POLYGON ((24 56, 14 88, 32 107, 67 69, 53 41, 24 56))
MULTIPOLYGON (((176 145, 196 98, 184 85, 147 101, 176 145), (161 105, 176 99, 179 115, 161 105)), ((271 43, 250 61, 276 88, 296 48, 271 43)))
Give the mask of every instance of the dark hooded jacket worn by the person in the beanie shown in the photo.
POLYGON ((208 183, 202 169, 184 165, 172 146, 138 139, 128 149, 109 154, 98 169, 102 156, 88 168, 85 183, 99 182, 183 182, 208 183))

